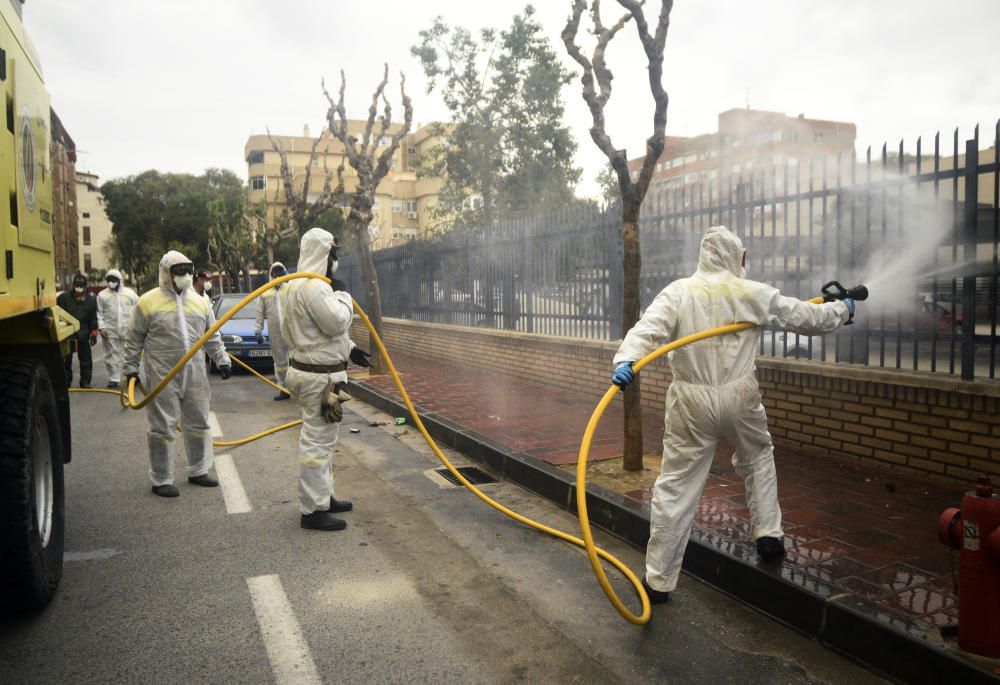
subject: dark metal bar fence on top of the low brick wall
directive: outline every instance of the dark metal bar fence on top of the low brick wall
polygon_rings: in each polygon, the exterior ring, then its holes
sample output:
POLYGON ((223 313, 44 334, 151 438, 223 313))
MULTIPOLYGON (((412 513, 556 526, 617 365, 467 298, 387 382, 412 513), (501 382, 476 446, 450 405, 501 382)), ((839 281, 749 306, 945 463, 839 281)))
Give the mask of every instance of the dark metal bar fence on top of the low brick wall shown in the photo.
MULTIPOLYGON (((862 281, 857 325, 825 337, 765 330, 761 354, 995 378, 1000 122, 960 145, 915 154, 786 159, 741 175, 654 184, 640 227, 643 305, 697 266, 701 236, 725 224, 748 248, 748 277, 814 297, 862 281), (949 149, 950 148, 950 149, 949 149)), ((687 179, 685 179, 687 180, 687 179)), ((614 339, 621 333, 621 213, 565 211, 375 253, 385 316, 614 339)), ((360 268, 341 265, 364 306, 360 268)))

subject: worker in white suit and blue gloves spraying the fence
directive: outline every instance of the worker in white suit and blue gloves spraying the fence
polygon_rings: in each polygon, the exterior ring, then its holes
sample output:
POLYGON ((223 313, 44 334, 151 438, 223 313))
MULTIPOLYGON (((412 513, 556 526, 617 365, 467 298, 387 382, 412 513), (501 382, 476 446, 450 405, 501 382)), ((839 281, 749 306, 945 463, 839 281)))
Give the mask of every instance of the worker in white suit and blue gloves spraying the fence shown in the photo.
MULTIPOLYGON (((745 278, 746 251, 724 226, 701 241, 698 269, 674 281, 650 304, 614 357, 612 382, 634 379, 632 364, 665 342, 727 324, 775 322, 805 335, 830 333, 851 320, 854 301, 811 304, 745 278)), ((709 338, 670 352, 673 380, 667 390, 663 462, 653 486, 650 535, 643 581, 654 604, 677 586, 698 498, 725 438, 736 448, 733 466, 746 484, 757 552, 780 559, 781 510, 774 447, 761 404, 754 357, 760 329, 709 338)))

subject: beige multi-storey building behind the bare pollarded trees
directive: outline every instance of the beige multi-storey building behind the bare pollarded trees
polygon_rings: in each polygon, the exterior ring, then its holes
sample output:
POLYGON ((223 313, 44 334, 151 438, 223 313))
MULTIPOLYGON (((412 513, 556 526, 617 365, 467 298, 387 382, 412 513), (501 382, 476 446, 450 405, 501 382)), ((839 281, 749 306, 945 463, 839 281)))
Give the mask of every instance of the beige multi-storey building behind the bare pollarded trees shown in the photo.
MULTIPOLYGON (((363 136, 366 122, 348 120, 348 131, 359 139, 363 136)), ((375 126, 376 132, 378 124, 375 126)), ((393 125, 389 133, 398 131, 393 125)), ((431 232, 435 219, 433 209, 437 206, 441 179, 417 178, 417 167, 421 158, 438 138, 433 135, 432 125, 424 126, 410 133, 400 141, 392 159, 389 173, 379 184, 372 208, 375 218, 371 223, 372 246, 375 249, 399 245, 407 240, 424 237, 431 232)), ((374 135, 374 134, 373 134, 374 135)), ((301 136, 274 136, 288 155, 288 166, 298 187, 305 182, 306 168, 311 167, 309 197, 315 200, 323 192, 327 170, 332 174, 331 185, 337 183, 337 167, 344 165, 344 187, 350 193, 357 185, 357 174, 344 156, 343 145, 324 130, 315 156, 311 151, 316 139, 309 135, 308 126, 301 136)), ((379 148, 387 145, 388 136, 378 141, 379 148)), ((244 147, 247 175, 250 185, 250 201, 267 204, 268 222, 273 225, 285 209, 285 193, 282 189, 281 159, 274 151, 266 135, 250 136, 244 147)))

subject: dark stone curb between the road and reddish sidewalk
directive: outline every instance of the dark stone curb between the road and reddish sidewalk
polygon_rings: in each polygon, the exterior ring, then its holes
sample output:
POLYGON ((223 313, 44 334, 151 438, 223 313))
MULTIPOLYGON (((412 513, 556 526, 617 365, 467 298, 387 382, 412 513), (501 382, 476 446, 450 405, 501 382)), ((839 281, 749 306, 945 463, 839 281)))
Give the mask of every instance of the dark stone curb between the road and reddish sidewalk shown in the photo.
MULTIPOLYGON (((350 381, 351 394, 394 416, 408 416, 403 402, 364 382, 350 381)), ((441 445, 482 464, 575 514, 576 479, 531 455, 510 449, 448 419, 421 413, 427 432, 441 445)), ((600 485, 587 486, 590 521, 644 549, 649 539, 649 507, 600 485)), ((932 641, 914 622, 872 602, 808 578, 797 569, 758 562, 752 544, 692 532, 684 571, 785 625, 865 666, 907 683, 966 685, 1000 683, 995 663, 980 667, 944 643, 932 641)))

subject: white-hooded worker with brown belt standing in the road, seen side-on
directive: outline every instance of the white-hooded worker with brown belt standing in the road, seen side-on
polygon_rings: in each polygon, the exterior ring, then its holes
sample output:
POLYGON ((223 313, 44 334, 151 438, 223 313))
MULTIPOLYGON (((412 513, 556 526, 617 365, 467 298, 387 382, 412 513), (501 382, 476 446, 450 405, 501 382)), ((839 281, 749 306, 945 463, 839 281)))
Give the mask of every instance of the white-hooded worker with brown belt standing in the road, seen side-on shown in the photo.
MULTIPOLYGON (((299 245, 300 272, 337 271, 337 245, 329 232, 311 228, 299 245)), ((288 346, 287 387, 302 416, 299 433, 299 511, 302 528, 343 530, 333 514, 354 506, 333 493, 333 448, 340 434, 338 384, 347 382, 347 361, 371 366, 369 356, 348 337, 354 314, 343 282, 332 287, 318 278, 288 281, 281 289, 281 335, 288 346)))

